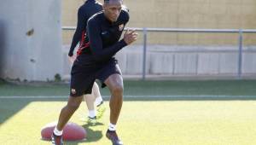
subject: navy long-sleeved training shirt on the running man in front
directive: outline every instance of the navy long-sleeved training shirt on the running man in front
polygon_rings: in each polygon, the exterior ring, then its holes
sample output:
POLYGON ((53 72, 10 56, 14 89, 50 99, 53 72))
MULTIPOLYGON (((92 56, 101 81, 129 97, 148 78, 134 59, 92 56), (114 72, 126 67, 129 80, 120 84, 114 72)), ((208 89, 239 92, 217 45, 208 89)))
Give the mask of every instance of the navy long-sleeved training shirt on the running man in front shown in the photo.
POLYGON ((127 45, 124 39, 119 40, 119 38, 128 20, 129 14, 124 9, 121 10, 115 22, 109 21, 103 12, 92 16, 87 23, 84 39, 86 47, 82 49, 81 54, 91 55, 92 59, 97 62, 110 60, 127 45))

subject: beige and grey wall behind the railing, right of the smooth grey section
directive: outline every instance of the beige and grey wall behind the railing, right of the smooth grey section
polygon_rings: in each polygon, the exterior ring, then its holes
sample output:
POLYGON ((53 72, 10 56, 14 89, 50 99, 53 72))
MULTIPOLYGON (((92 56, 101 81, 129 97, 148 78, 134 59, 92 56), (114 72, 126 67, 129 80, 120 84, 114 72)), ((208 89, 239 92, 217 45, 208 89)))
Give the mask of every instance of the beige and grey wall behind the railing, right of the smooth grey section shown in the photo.
MULTIPOLYGON (((102 2, 102 1, 100 1, 102 2)), ((130 9, 130 27, 255 29, 255 0, 137 0, 124 1, 130 9)), ((62 3, 62 25, 76 26, 77 10, 84 0, 62 3)), ((143 34, 137 43, 118 53, 125 75, 143 70, 143 34)), ((67 52, 73 31, 63 31, 67 52)), ((162 76, 236 76, 237 33, 148 32, 147 74, 162 76)), ((243 34, 244 49, 256 45, 256 34, 243 34)), ((67 55, 67 54, 64 54, 67 55)), ((244 52, 243 75, 255 76, 255 48, 244 52)), ((67 64, 63 64, 67 68, 67 64)), ((68 68, 66 71, 69 73, 68 68)), ((67 74, 68 76, 68 73, 67 74)))

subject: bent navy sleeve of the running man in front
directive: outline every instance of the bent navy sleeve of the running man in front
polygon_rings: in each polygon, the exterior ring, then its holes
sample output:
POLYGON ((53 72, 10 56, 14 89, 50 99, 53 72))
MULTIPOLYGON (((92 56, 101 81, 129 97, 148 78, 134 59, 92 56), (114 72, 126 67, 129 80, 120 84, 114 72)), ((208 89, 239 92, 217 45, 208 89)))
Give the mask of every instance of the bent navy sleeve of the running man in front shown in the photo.
POLYGON ((120 49, 124 48, 127 44, 124 39, 111 45, 108 48, 103 48, 101 38, 101 26, 96 20, 89 20, 87 24, 87 32, 90 40, 90 50, 93 58, 96 61, 105 61, 115 55, 120 49))

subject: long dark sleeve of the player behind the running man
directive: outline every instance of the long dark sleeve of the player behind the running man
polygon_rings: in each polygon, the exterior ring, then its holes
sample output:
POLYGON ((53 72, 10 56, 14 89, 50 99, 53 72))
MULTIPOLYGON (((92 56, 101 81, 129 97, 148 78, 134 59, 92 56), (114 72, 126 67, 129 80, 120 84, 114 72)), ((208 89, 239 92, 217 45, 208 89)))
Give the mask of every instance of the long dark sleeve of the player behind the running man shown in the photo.
POLYGON ((83 30, 86 27, 86 18, 84 16, 84 10, 82 8, 79 8, 78 12, 78 24, 75 33, 73 34, 73 40, 71 47, 69 49, 68 55, 73 56, 73 50, 79 44, 79 41, 81 41, 83 30))

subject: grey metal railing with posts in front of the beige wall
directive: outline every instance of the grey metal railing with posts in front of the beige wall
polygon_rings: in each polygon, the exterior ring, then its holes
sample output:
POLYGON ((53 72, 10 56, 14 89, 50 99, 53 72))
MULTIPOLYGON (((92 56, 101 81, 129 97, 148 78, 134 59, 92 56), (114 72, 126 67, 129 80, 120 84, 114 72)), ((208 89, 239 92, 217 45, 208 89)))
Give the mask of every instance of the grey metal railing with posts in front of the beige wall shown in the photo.
MULTIPOLYGON (((75 30, 74 26, 62 26, 62 30, 75 30)), ((147 58, 147 36, 148 32, 211 32, 211 33, 237 33, 238 34, 238 62, 237 77, 241 78, 243 33, 256 33, 256 29, 184 29, 184 28, 138 28, 130 27, 138 32, 143 32, 143 80, 146 78, 146 58, 147 58)))

